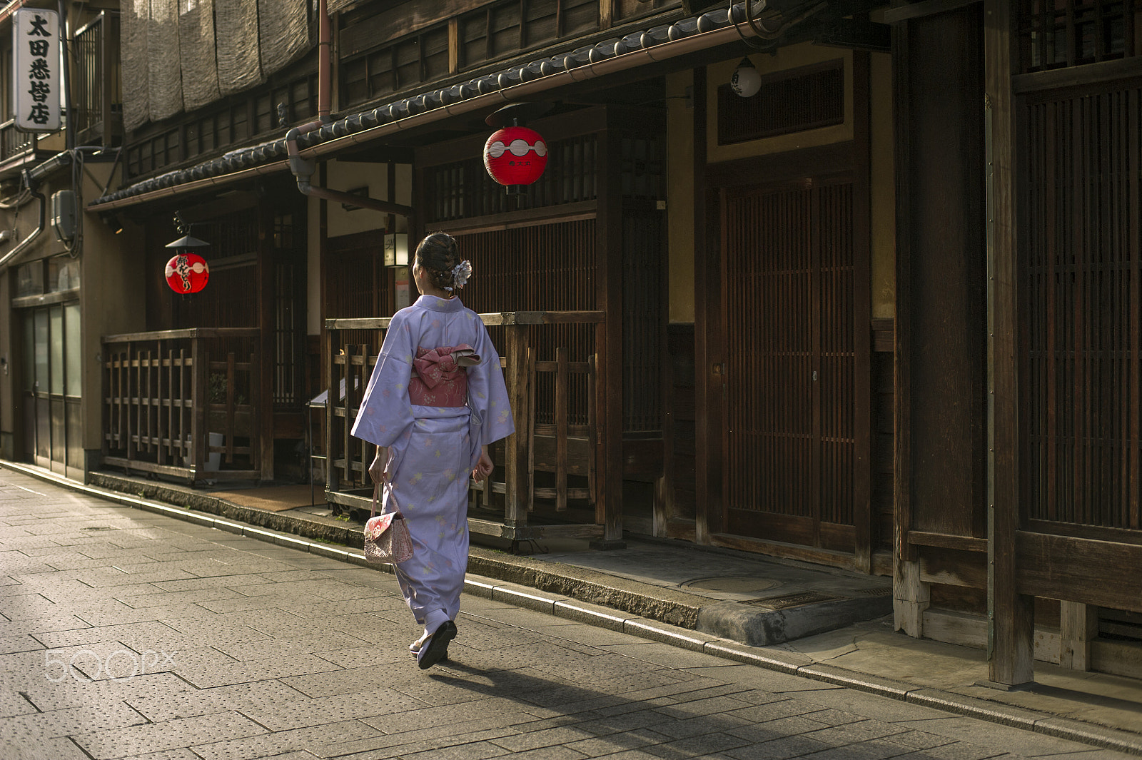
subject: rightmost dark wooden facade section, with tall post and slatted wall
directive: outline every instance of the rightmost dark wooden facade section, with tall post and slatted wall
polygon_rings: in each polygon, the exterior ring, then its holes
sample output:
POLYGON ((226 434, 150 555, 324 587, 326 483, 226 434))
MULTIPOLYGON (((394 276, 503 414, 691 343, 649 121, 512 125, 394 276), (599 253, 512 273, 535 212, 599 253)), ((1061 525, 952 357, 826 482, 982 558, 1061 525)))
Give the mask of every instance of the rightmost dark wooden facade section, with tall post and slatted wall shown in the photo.
POLYGON ((1137 11, 940 6, 886 14, 896 624, 1139 676, 1137 11))

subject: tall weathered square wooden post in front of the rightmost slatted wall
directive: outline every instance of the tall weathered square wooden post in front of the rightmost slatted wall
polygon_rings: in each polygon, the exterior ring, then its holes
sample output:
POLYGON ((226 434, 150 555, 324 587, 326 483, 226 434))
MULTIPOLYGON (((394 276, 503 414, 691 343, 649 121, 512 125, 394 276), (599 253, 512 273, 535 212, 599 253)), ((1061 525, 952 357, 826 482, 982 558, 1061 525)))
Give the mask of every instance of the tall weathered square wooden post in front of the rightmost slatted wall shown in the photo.
MULTIPOLYGON (((1012 7, 983 6, 988 113, 988 678, 999 687, 1035 678, 1034 598, 1016 588, 1019 531, 1015 112, 1011 88, 1012 7)), ((981 104, 982 106, 983 104, 981 104)))

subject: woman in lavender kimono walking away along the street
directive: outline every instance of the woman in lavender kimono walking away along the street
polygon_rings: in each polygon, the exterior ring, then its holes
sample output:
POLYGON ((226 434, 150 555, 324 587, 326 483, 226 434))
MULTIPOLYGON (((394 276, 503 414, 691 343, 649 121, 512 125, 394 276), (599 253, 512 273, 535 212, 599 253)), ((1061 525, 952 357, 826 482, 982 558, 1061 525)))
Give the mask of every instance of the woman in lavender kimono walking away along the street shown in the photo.
POLYGON ((488 445, 514 432, 499 351, 457 291, 472 275, 456 240, 434 233, 417 246, 421 296, 393 315, 353 426, 378 446, 369 467, 383 514, 400 510, 412 558, 395 565, 424 633, 409 649, 421 669, 448 657, 468 565, 468 474, 492 471, 488 445))

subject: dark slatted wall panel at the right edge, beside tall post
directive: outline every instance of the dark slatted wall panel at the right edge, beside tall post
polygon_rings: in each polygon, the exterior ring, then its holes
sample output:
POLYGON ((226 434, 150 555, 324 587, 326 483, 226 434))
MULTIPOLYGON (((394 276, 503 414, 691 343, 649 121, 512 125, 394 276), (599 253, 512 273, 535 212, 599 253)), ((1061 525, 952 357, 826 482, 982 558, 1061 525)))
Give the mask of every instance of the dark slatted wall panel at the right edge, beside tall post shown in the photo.
POLYGON ((1134 84, 1024 103, 1021 461, 1032 520, 1142 529, 1140 102, 1134 84))

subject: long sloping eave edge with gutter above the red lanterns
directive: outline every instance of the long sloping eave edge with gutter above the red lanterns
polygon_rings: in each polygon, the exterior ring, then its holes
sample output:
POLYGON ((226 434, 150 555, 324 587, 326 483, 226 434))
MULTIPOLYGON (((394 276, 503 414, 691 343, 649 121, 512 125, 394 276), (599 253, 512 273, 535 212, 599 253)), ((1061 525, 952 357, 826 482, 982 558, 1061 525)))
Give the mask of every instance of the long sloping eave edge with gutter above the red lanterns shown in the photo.
MULTIPOLYGON (((748 25, 743 25, 741 27, 734 26, 733 21, 739 18, 745 18, 742 3, 732 6, 731 9, 710 11, 700 17, 682 19, 669 26, 660 26, 653 30, 644 31, 641 34, 635 33, 633 35, 628 35, 627 38, 622 38, 621 40, 609 40, 605 43, 600 43, 590 48, 581 48, 570 55, 563 56, 565 65, 558 70, 555 70, 555 67, 550 66, 546 60, 537 64, 529 64, 522 67, 517 66, 508 71, 499 72, 498 74, 483 76, 472 82, 452 86, 450 90, 429 90, 411 98, 384 105, 373 111, 353 114, 332 124, 324 124, 320 129, 314 128, 315 122, 305 124, 301 128, 295 128, 297 129, 296 132, 290 130, 293 132, 293 142, 298 145, 295 147, 296 155, 293 156, 293 160, 315 160, 329 157, 345 148, 371 143, 373 140, 379 140, 392 135, 407 132, 409 130, 419 129, 450 116, 459 116, 476 111, 494 111, 505 104, 525 100, 557 87, 585 82, 600 76, 629 71, 642 65, 669 60, 691 52, 698 52, 721 45, 740 41, 743 35, 751 37, 753 31, 748 25), (715 15, 719 16, 721 21, 709 21, 709 17, 715 15), (726 22, 729 22, 729 24, 724 25, 726 22), (716 29, 702 31, 703 25, 707 29, 710 26, 715 26, 716 29), (626 45, 626 40, 632 37, 638 38, 637 43, 641 45, 641 47, 629 50, 626 45), (600 52, 600 48, 603 47, 611 49, 611 52, 600 52), (619 52, 620 48, 622 49, 622 52, 619 52), (586 56, 587 59, 580 63, 580 59, 584 56, 586 56), (549 68, 552 71, 548 71, 549 68), (518 83, 510 83, 513 81, 517 81, 518 83), (476 90, 477 94, 469 96, 465 95, 465 88, 467 88, 468 91, 476 90), (488 91, 484 91, 485 89, 488 91), (442 97, 443 92, 455 94, 457 91, 461 92, 459 96, 456 96, 459 98, 457 102, 445 102, 443 105, 428 107, 428 103, 431 100, 444 100, 442 97), (417 107, 425 110, 420 113, 409 113, 417 107), (401 115, 403 113, 408 113, 408 115, 401 115), (375 127, 367 127, 364 129, 357 128, 360 124, 364 124, 370 121, 373 123, 384 121, 385 123, 379 123, 375 127), (356 124, 351 128, 351 122, 356 122, 356 124), (325 132, 331 132, 332 137, 322 139, 321 135, 325 132), (315 135, 316 137, 314 137, 315 135), (315 145, 299 147, 301 143, 312 142, 313 139, 317 139, 319 142, 315 145)), ((282 148, 288 148, 288 145, 286 144, 286 139, 279 139, 267 143, 264 146, 258 146, 258 149, 265 148, 274 155, 281 155, 281 153, 286 152, 282 148)), ((235 151, 234 153, 244 153, 244 151, 235 151)), ((243 156, 243 159, 244 157, 246 156, 243 156)), ((251 160, 254 159, 251 157, 251 160)), ((194 168, 194 171, 198 172, 200 168, 206 165, 207 164, 200 164, 200 167, 194 168)), ((195 178, 185 183, 171 181, 169 178, 160 178, 170 184, 155 189, 144 191, 131 195, 123 195, 104 202, 96 201, 90 203, 87 208, 90 211, 112 211, 114 209, 146 203, 148 201, 170 197, 172 195, 188 193, 196 189, 228 185, 251 177, 276 173, 289 169, 290 162, 288 160, 283 160, 275 161, 273 163, 254 165, 228 173, 195 178)), ((336 193, 336 191, 330 192, 336 193)), ((361 205, 361 201, 363 199, 353 195, 351 199, 337 200, 346 200, 347 202, 361 205)), ((389 210, 392 211, 392 209, 389 210)))

